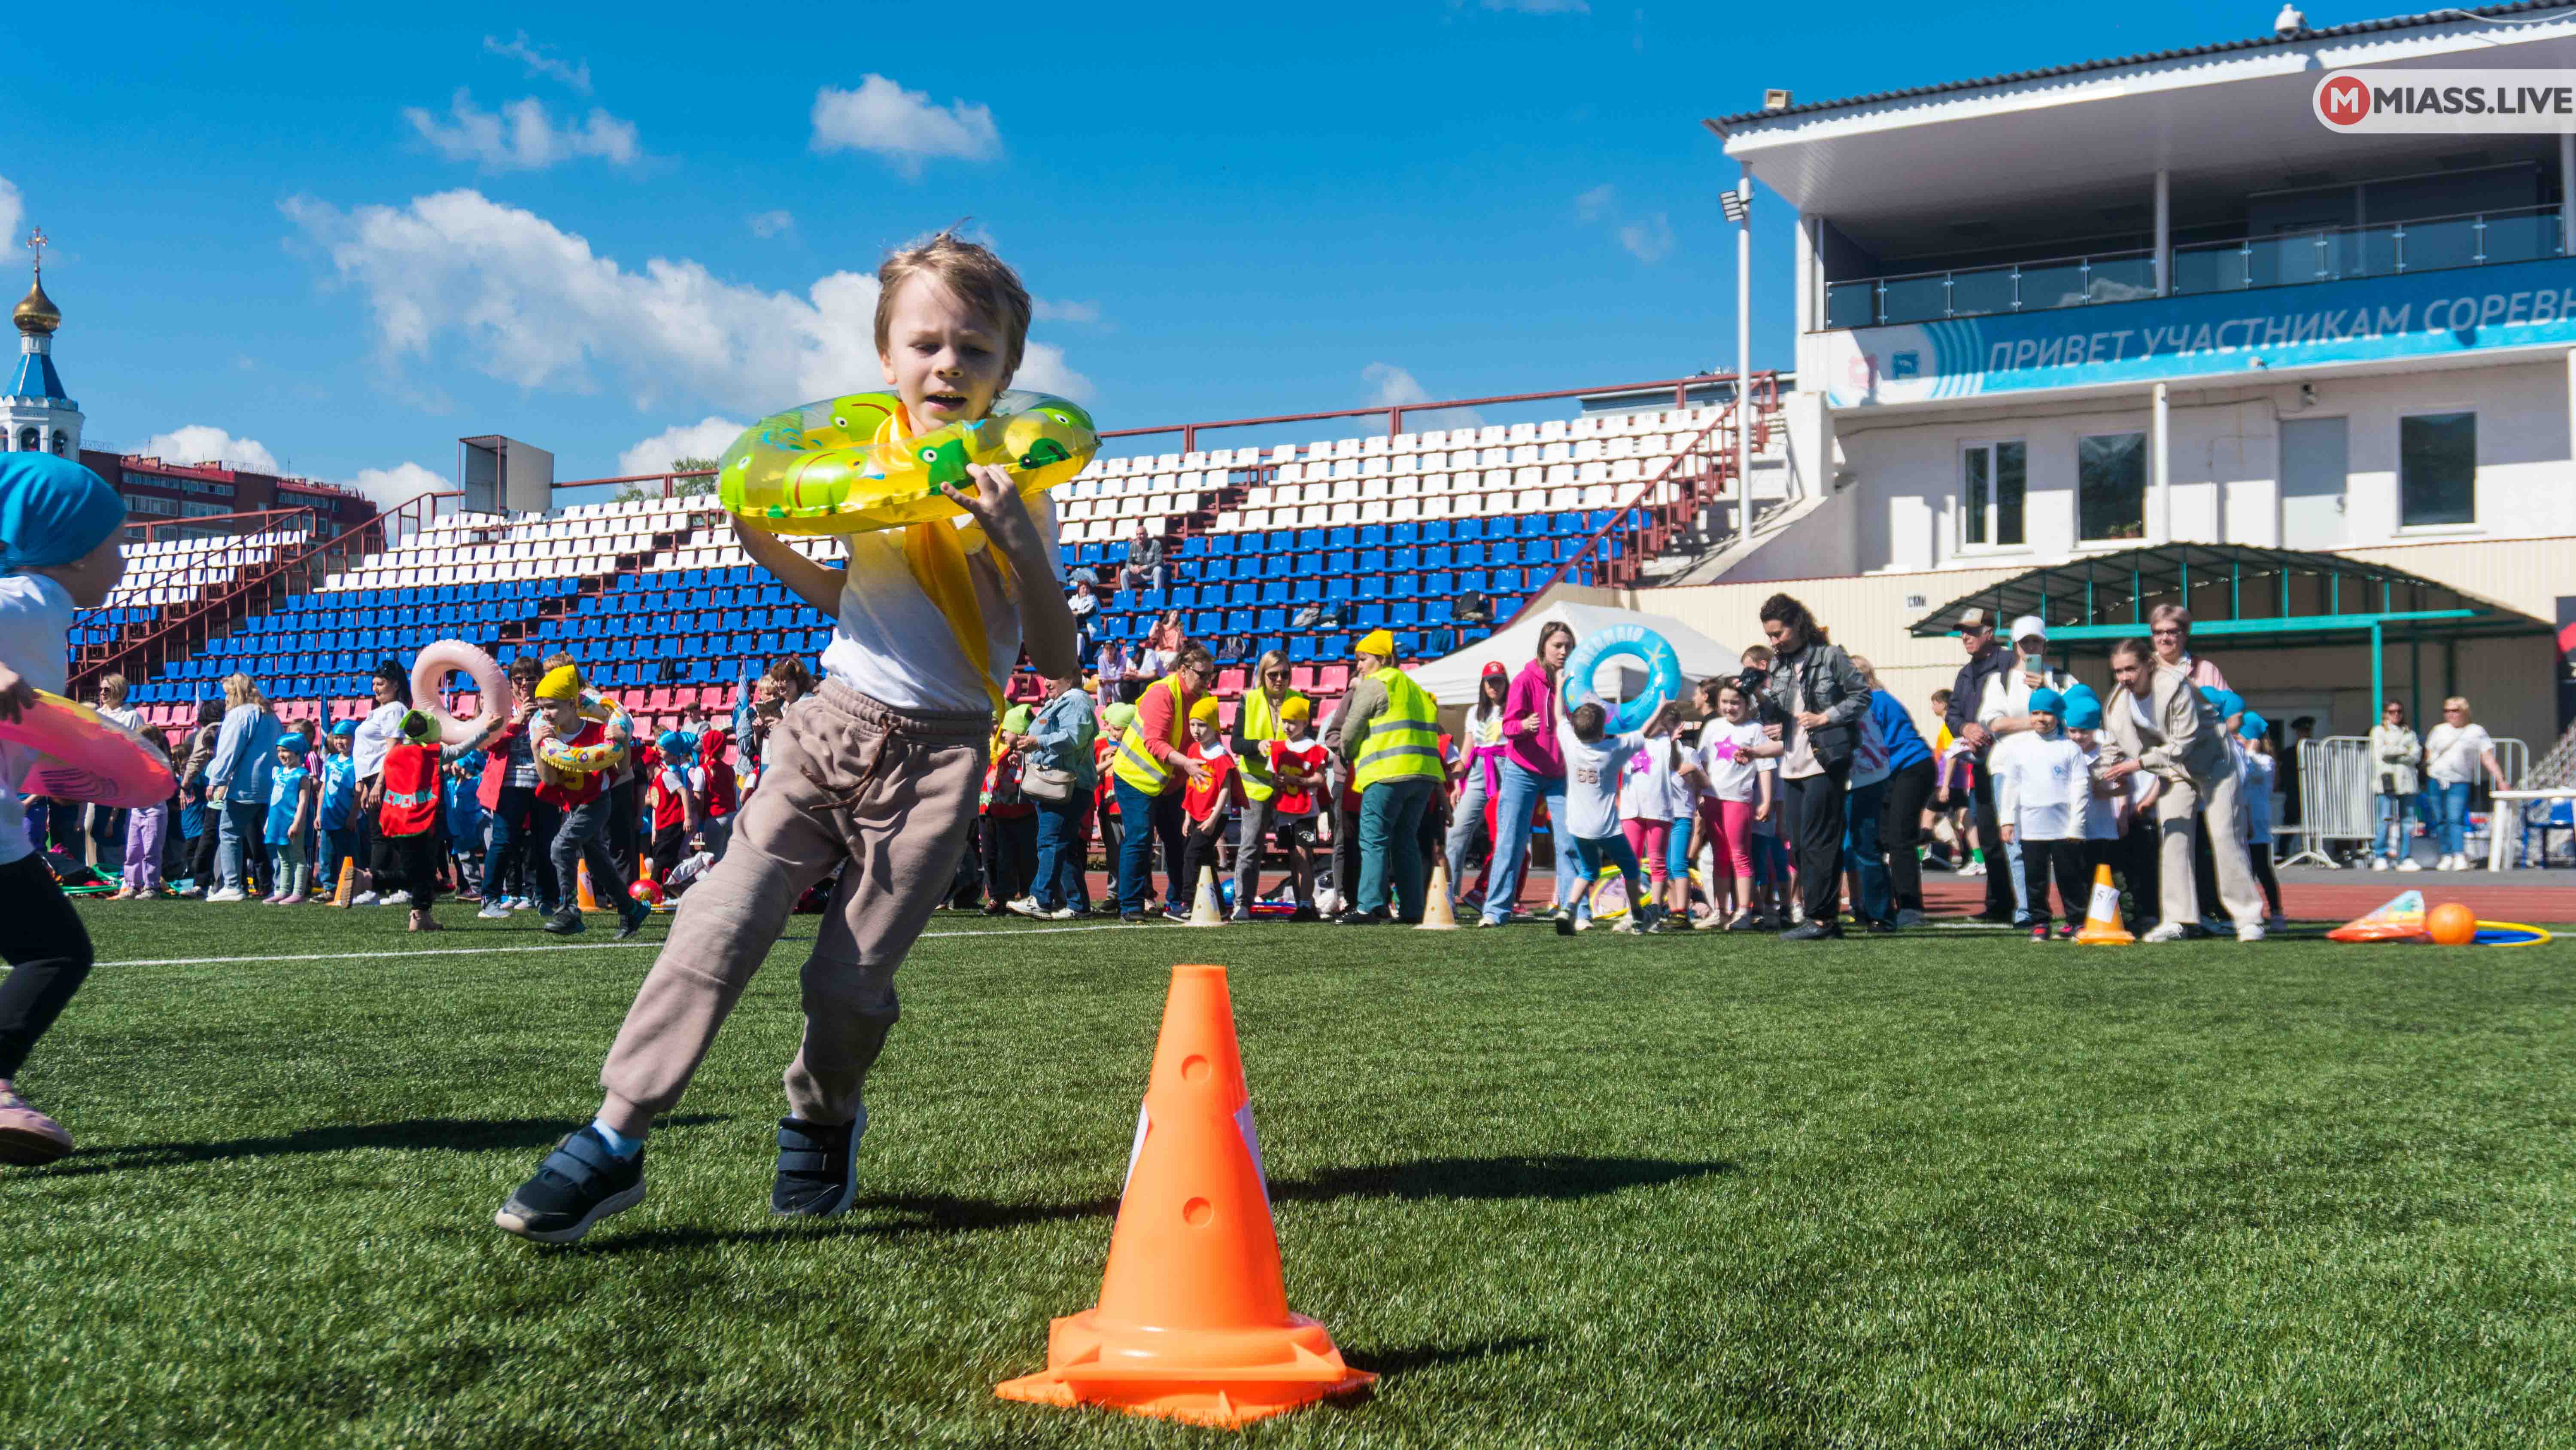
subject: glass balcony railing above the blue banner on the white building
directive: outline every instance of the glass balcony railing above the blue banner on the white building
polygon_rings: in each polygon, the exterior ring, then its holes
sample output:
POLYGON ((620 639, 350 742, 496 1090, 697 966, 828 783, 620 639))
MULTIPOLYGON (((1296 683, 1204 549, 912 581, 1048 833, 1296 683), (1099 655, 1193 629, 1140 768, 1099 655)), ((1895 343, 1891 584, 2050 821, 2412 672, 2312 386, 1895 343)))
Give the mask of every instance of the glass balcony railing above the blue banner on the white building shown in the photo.
MULTIPOLYGON (((2563 255, 2566 237, 2558 234, 2555 206, 2318 227, 2174 247, 2174 296, 2532 263, 2563 255)), ((2156 255, 2151 250, 1837 281, 1824 288, 1824 325, 1883 327, 2136 301, 2141 296, 2156 296, 2156 255)))

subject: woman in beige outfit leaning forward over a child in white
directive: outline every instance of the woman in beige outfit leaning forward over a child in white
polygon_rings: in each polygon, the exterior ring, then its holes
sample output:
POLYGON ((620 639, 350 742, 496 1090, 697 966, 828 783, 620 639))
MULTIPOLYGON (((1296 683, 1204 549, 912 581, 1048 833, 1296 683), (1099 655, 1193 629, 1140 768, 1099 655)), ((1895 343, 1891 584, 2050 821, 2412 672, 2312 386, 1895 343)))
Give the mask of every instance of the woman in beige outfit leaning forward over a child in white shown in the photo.
POLYGON ((2128 788, 2128 778, 2156 775, 2159 907, 2146 940, 2172 943, 2200 932, 2200 886, 2192 881, 2192 824, 2202 824, 2215 858, 2218 894, 2236 919, 2236 940, 2262 940, 2262 891, 2254 889, 2254 863, 2236 834, 2241 780, 2236 749, 2228 744, 2215 706, 2192 683, 2190 670, 2161 664, 2146 639, 2112 644, 2112 698, 2102 706, 2102 755, 2094 778, 2128 788))

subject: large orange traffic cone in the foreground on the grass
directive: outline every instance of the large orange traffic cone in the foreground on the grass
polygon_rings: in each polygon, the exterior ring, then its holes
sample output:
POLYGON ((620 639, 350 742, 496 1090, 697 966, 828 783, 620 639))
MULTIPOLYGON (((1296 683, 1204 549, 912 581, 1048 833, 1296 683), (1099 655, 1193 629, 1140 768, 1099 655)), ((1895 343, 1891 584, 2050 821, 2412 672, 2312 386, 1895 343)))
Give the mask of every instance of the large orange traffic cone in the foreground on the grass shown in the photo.
POLYGON ((1175 966, 1100 1308, 1056 1319, 1046 1370, 994 1393, 1234 1429, 1376 1380, 1288 1313, 1226 968, 1175 966))

